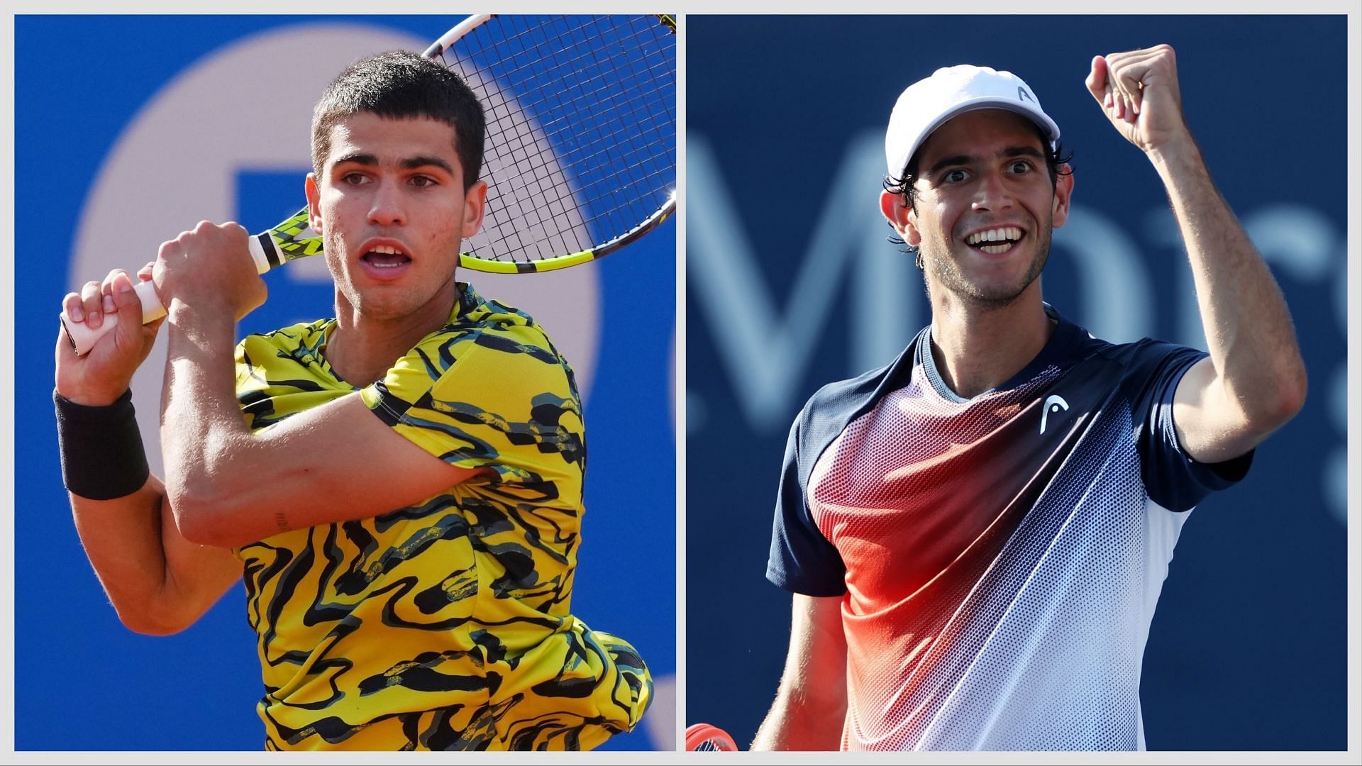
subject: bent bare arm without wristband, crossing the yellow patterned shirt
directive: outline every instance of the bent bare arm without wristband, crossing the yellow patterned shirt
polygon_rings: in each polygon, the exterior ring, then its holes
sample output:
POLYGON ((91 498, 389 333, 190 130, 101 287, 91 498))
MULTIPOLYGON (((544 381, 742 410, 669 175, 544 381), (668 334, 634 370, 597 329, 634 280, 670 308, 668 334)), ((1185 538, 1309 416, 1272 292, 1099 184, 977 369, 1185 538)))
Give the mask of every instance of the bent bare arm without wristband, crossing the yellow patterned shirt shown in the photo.
POLYGON ((176 523, 189 540, 240 547, 281 532, 376 517, 478 472, 394 432, 358 394, 257 432, 234 390, 236 320, 264 301, 245 229, 200 224, 162 247, 169 352, 161 447, 176 523))

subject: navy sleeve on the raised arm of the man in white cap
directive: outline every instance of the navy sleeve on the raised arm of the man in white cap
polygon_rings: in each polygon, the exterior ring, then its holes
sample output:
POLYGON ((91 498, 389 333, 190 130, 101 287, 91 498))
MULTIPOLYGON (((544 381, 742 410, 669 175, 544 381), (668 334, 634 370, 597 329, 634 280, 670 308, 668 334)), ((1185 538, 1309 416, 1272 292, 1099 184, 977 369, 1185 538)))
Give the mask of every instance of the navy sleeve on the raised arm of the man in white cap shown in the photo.
POLYGON ((1152 341, 1132 360, 1128 383, 1140 476, 1150 499, 1170 511, 1190 511, 1211 492, 1237 484, 1253 463, 1252 450, 1220 463, 1201 463, 1178 443, 1173 397, 1186 371, 1207 356, 1186 346, 1152 341))

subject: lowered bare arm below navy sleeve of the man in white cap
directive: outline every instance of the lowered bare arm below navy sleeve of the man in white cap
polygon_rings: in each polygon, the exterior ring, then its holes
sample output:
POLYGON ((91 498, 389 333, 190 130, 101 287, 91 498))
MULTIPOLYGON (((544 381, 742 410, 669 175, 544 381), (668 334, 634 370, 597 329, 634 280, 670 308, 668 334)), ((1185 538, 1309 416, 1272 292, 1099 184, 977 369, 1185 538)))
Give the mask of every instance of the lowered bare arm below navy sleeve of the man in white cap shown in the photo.
POLYGON ((847 709, 846 668, 842 597, 795 593, 780 688, 752 750, 840 748, 847 709))

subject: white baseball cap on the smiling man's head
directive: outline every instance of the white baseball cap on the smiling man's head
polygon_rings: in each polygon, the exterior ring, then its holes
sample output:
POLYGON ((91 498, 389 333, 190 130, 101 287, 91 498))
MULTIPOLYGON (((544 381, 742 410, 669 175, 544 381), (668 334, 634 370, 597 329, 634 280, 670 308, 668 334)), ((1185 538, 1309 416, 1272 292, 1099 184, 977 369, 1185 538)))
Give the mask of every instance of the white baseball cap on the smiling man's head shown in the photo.
POLYGON ((903 173, 932 131, 974 109, 1008 109, 1028 117, 1050 139, 1051 149, 1060 139, 1060 125, 1041 109, 1041 101, 1022 78, 970 64, 944 67, 899 94, 884 135, 889 176, 898 179, 903 173))

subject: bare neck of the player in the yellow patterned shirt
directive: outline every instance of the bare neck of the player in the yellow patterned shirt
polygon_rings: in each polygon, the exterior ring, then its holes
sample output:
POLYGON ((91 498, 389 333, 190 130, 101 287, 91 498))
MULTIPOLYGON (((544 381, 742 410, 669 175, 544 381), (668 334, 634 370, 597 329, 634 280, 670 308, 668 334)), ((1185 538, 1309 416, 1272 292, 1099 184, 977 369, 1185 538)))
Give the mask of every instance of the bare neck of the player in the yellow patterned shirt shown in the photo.
POLYGON ((336 327, 327 341, 331 369, 353 386, 381 380, 419 341, 449 320, 462 293, 454 282, 447 300, 432 300, 419 311, 394 318, 365 316, 336 292, 336 327))

